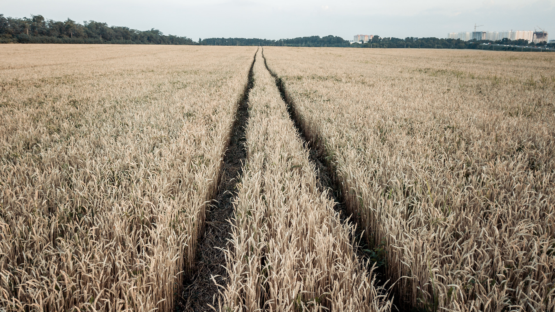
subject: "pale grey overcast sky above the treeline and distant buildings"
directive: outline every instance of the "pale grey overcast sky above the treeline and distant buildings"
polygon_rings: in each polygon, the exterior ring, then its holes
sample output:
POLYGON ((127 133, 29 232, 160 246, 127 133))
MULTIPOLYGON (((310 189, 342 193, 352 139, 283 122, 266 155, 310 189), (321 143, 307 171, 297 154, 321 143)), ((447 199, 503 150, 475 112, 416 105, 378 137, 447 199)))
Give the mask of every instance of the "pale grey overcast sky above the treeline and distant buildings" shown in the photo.
POLYGON ((438 37, 448 32, 533 30, 544 28, 555 39, 555 0, 0 0, 0 13, 11 17, 41 14, 83 23, 93 19, 110 26, 193 38, 294 38, 332 34, 381 37, 438 37))

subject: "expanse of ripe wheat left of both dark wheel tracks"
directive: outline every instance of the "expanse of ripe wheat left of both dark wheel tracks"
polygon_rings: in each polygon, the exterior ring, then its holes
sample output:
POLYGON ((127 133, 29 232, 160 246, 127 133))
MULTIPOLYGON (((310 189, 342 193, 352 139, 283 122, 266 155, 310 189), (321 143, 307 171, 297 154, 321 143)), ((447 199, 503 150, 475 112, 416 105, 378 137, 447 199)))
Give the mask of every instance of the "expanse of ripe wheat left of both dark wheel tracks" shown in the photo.
POLYGON ((0 53, 1 305, 172 310, 253 48, 0 53))

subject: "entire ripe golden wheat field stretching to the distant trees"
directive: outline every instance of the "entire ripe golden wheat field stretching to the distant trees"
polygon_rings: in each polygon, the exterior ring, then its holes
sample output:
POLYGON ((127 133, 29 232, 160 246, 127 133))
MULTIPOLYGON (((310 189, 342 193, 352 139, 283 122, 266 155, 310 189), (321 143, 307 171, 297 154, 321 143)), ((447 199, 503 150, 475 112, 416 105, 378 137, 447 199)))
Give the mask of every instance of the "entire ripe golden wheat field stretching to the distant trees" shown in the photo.
POLYGON ((0 311, 176 311, 199 261, 225 276, 186 311, 555 310, 551 53, 0 56, 0 311))

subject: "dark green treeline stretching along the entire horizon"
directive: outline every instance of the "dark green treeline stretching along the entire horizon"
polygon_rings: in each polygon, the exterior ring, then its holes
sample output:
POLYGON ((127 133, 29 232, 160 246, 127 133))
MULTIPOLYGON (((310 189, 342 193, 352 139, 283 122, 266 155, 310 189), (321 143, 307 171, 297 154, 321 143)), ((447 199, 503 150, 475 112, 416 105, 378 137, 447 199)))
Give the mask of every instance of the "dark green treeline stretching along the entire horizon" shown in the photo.
MULTIPOLYGON (((499 49, 482 43, 514 44, 519 46, 555 47, 554 43, 528 43, 526 40, 462 41, 461 39, 440 38, 381 38, 375 35, 370 42, 353 43, 337 37, 310 36, 292 39, 259 38, 206 38, 194 42, 187 37, 164 35, 158 29, 139 31, 129 27, 108 26, 107 23, 85 21, 76 23, 46 19, 41 15, 31 18, 4 17, 0 14, 0 43, 115 43, 115 44, 198 44, 203 46, 288 46, 288 47, 353 47, 353 48, 438 48, 438 49, 499 49)), ((517 47, 504 47, 509 51, 520 51, 517 47)))

